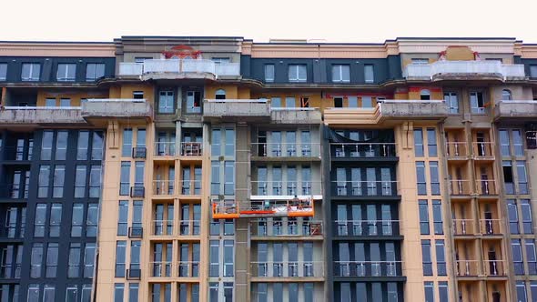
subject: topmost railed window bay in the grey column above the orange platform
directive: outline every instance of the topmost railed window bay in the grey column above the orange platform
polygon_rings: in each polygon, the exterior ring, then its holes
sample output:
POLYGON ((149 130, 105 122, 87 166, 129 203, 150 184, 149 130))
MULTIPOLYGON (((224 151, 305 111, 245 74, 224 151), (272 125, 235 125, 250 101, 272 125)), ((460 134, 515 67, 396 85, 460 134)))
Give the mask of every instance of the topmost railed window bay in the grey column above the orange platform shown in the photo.
POLYGON ((319 162, 319 126, 263 129, 253 132, 252 162, 319 162))

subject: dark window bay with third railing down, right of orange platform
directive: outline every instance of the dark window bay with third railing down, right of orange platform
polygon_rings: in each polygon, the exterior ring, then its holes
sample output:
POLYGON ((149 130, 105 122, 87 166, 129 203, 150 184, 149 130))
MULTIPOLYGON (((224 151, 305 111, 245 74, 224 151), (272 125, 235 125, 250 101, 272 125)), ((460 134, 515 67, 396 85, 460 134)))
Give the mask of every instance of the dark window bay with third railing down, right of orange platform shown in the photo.
POLYGON ((402 240, 398 207, 397 203, 333 203, 332 240, 402 240))

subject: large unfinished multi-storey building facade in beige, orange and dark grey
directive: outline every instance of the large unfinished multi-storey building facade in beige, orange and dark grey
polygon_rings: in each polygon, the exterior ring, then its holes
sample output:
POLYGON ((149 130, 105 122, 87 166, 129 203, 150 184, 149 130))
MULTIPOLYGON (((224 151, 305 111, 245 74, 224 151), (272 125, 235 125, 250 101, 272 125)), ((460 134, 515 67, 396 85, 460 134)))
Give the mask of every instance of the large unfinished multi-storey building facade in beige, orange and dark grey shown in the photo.
POLYGON ((535 45, 1 44, 1 301, 537 300, 535 45))

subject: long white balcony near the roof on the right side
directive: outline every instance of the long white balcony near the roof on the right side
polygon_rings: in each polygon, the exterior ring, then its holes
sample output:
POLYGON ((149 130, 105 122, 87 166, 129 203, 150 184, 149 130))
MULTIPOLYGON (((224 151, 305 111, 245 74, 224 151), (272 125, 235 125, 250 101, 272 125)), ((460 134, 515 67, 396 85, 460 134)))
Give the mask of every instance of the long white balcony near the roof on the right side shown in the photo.
POLYGON ((437 61, 431 64, 409 64, 403 76, 411 80, 524 79, 524 65, 499 61, 437 61))

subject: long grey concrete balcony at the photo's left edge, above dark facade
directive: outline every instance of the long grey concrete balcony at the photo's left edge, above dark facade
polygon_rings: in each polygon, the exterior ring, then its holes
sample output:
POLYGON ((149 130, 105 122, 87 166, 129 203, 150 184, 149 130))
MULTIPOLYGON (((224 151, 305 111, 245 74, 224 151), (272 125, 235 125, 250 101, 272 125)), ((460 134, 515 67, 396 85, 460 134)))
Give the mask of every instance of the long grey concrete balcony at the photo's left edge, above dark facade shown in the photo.
POLYGON ((3 126, 86 125, 81 107, 5 106, 0 110, 3 126))

